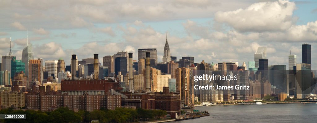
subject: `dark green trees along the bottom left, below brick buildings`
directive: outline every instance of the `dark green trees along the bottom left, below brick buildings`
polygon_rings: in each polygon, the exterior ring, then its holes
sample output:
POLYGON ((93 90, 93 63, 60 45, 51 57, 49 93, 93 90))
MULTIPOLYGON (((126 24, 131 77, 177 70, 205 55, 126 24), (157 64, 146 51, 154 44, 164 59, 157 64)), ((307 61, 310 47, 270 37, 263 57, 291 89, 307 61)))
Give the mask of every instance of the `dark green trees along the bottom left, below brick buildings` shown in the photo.
POLYGON ((0 119, 0 122, 14 123, 87 123, 91 120, 99 120, 100 123, 126 123, 142 120, 159 120, 167 113, 163 110, 145 110, 117 108, 115 110, 101 109, 88 112, 79 110, 74 112, 68 108, 58 108, 51 112, 34 110, 2 109, 1 114, 26 114, 27 119, 0 119))

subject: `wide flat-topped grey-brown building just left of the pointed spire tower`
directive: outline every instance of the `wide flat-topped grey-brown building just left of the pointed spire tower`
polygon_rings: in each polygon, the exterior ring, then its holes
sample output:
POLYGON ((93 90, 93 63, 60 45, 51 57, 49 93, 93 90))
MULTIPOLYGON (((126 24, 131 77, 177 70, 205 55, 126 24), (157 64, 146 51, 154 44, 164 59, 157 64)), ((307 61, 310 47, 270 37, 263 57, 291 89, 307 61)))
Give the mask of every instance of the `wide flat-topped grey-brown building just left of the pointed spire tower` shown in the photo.
POLYGON ((146 52, 150 52, 151 66, 156 65, 158 62, 158 56, 156 48, 150 49, 139 49, 138 50, 138 60, 146 58, 146 52))

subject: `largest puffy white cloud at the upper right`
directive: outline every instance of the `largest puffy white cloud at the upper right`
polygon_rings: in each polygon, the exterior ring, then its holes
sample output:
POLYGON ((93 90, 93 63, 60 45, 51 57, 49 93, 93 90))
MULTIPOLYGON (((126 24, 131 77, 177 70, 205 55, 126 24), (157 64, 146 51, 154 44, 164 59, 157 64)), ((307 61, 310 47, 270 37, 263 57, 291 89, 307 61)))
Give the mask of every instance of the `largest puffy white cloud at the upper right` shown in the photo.
POLYGON ((283 31, 294 24, 295 3, 286 0, 254 3, 245 9, 217 12, 215 20, 242 32, 283 31))

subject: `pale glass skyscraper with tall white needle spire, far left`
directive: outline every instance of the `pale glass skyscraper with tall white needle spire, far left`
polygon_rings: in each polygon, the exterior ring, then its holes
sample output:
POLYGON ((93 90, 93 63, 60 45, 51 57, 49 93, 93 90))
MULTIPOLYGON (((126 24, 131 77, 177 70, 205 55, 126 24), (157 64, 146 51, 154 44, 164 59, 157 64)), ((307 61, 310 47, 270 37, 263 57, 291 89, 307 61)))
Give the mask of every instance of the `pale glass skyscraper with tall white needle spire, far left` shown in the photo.
POLYGON ((25 75, 29 76, 29 61, 34 59, 32 44, 29 44, 29 31, 27 41, 26 47, 22 51, 22 62, 25 64, 25 75))

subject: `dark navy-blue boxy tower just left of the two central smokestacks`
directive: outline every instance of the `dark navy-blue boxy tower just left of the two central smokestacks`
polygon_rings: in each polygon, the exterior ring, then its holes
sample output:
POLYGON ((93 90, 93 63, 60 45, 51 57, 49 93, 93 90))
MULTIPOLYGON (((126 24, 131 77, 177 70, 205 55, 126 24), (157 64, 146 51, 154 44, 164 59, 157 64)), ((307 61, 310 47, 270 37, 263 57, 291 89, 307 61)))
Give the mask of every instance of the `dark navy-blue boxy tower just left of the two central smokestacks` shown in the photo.
POLYGON ((119 71, 121 71, 121 75, 126 75, 127 73, 127 59, 126 57, 117 57, 115 58, 115 74, 118 75, 119 71))

